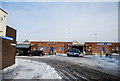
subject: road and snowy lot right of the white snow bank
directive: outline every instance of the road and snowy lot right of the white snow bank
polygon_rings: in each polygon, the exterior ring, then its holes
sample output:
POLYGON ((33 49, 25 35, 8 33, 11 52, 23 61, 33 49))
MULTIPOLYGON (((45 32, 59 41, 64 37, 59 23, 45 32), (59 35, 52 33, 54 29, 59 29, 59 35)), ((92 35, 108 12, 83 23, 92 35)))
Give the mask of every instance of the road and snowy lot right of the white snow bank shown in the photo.
POLYGON ((17 58, 49 64, 55 68, 62 79, 80 79, 81 81, 109 79, 109 81, 115 81, 119 77, 118 61, 105 56, 85 55, 84 57, 67 57, 65 54, 62 54, 43 57, 22 56, 17 58))

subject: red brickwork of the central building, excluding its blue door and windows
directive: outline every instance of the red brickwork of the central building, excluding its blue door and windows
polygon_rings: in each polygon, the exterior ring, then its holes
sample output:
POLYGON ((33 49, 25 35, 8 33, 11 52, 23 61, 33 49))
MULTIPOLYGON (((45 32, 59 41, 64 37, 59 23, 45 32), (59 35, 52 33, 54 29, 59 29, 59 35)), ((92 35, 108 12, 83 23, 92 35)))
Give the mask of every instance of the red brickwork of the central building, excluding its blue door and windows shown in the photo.
POLYGON ((49 53, 50 47, 53 47, 53 51, 56 51, 56 53, 66 53, 68 44, 72 48, 72 42, 31 42, 31 51, 34 51, 36 47, 38 47, 38 50, 40 50, 40 47, 46 47, 44 52, 49 53), (59 47, 62 47, 62 50, 58 50, 59 47))

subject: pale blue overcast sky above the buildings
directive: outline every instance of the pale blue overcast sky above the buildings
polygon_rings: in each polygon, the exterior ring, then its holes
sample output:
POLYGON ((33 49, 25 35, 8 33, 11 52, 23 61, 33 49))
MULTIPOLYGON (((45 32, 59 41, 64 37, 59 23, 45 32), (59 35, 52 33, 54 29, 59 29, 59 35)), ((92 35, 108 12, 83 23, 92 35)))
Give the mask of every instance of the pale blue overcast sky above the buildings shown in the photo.
POLYGON ((118 41, 117 2, 3 2, 2 7, 18 41, 118 41))

